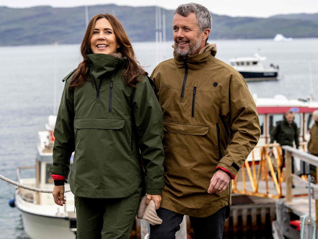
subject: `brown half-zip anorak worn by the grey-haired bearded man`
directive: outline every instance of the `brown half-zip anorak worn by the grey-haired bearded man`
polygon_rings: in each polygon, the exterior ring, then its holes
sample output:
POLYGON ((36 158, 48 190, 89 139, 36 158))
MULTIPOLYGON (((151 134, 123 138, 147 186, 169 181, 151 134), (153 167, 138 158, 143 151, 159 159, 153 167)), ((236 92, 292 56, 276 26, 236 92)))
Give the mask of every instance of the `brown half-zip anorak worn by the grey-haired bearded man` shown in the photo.
POLYGON ((229 187, 207 192, 217 167, 236 176, 260 135, 244 78, 215 58, 215 45, 160 63, 152 72, 163 111, 165 151, 161 207, 195 217, 229 203, 229 187), (202 52, 202 53, 201 53, 202 52))

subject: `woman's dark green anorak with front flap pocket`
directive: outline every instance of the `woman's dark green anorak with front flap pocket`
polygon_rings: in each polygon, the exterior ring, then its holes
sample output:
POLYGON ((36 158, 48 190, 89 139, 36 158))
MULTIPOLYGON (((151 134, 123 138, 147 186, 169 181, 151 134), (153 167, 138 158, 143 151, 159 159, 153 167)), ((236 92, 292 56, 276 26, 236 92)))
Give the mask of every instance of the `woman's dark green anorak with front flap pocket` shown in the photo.
POLYGON ((122 81, 126 57, 88 54, 89 81, 69 90, 66 81, 54 130, 50 173, 68 177, 74 195, 122 198, 145 189, 160 194, 163 179, 162 110, 148 78, 136 88, 122 81), (97 89, 101 83, 100 90, 97 89), (141 150, 141 155, 139 153, 141 150))

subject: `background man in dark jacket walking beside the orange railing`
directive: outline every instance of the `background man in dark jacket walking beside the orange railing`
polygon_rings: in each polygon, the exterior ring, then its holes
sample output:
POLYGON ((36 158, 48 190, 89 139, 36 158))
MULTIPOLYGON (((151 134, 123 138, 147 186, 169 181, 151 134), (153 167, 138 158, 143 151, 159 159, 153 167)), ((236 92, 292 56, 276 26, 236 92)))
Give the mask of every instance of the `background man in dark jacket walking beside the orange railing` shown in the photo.
MULTIPOLYGON (((299 132, 297 124, 294 122, 294 113, 292 111, 287 111, 284 114, 282 121, 277 122, 277 125, 271 131, 271 142, 274 140, 281 146, 289 145, 294 147, 293 142, 295 141, 296 148, 299 148, 299 132)), ((270 150, 273 153, 273 149, 270 150)), ((280 171, 283 169, 285 163, 285 150, 282 150, 283 162, 280 166, 280 171)), ((294 173, 294 158, 292 158, 292 173, 294 173)), ((293 185, 294 187, 294 185, 293 185)))

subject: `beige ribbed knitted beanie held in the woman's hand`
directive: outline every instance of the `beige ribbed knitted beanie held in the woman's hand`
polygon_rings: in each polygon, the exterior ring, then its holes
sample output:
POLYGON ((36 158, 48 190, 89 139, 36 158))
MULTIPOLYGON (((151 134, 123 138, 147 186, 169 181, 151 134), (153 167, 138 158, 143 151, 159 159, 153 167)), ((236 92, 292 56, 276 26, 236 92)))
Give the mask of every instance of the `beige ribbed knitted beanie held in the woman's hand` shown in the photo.
POLYGON ((156 213, 156 205, 153 200, 150 200, 149 204, 146 204, 147 196, 143 196, 140 202, 140 206, 137 213, 138 219, 144 219, 148 221, 151 225, 161 224, 162 220, 158 217, 156 213))

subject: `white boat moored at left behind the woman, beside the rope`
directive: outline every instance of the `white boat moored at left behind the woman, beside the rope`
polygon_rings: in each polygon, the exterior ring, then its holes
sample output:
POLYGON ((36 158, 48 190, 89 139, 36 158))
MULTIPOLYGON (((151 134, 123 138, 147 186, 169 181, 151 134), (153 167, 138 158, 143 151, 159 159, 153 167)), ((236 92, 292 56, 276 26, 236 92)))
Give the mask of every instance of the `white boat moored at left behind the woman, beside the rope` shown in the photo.
MULTIPOLYGON (((52 132, 55 120, 56 116, 50 116, 49 122, 46 124, 47 130, 38 132, 37 156, 34 167, 35 177, 21 178, 20 171, 30 169, 30 167, 18 167, 18 183, 44 190, 53 189, 54 183, 49 173, 49 167, 52 163, 52 148, 54 143, 52 132)), ((69 184, 66 184, 65 189, 69 188, 69 184)), ((74 195, 72 192, 67 192, 65 196, 67 202, 62 207, 54 203, 53 196, 50 193, 32 192, 17 188, 15 192, 15 206, 21 212, 24 231, 30 238, 76 238, 74 195)))

